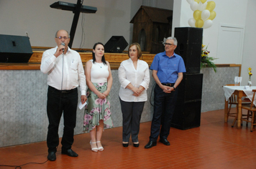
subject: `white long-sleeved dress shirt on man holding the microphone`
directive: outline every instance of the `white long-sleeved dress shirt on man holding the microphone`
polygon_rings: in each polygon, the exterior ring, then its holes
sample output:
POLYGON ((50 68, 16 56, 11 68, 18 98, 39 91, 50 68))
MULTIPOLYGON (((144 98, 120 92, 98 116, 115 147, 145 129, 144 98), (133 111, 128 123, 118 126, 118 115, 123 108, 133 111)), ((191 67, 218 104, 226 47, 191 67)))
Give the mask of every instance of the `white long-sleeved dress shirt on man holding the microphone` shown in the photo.
POLYGON ((47 84, 57 90, 72 90, 80 85, 81 95, 86 95, 86 75, 80 54, 68 48, 66 54, 55 57, 58 47, 42 54, 41 72, 48 74, 47 84))

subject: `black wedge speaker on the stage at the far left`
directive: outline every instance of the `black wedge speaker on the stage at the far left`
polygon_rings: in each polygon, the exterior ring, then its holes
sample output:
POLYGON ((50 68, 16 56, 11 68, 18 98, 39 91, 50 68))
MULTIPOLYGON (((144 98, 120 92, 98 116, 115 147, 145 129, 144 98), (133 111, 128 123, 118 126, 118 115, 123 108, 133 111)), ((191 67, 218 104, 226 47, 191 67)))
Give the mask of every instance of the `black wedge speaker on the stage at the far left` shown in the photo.
POLYGON ((29 37, 0 34, 0 62, 27 63, 32 54, 29 37))

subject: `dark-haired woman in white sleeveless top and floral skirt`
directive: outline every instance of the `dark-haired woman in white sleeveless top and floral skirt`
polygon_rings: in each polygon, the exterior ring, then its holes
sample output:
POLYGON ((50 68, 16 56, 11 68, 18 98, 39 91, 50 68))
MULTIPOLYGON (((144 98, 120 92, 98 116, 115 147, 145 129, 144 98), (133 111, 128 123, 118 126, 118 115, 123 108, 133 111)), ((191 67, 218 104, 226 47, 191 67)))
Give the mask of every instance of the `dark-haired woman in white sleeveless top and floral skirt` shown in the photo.
POLYGON ((86 84, 88 86, 88 105, 84 114, 83 131, 90 131, 91 150, 104 150, 101 135, 104 128, 113 127, 110 112, 109 92, 112 86, 112 75, 109 62, 104 57, 104 45, 101 42, 93 46, 93 59, 86 62, 86 84))

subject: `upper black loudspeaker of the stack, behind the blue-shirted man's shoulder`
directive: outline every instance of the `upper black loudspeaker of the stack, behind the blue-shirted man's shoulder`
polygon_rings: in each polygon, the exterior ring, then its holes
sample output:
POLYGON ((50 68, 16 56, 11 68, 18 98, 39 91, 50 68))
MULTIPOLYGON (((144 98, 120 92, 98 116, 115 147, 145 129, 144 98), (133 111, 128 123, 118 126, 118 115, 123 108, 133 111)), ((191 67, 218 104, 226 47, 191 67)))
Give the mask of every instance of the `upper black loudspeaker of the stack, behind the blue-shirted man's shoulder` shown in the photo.
POLYGON ((203 28, 178 27, 174 37, 178 41, 175 53, 179 54, 186 66, 187 73, 199 73, 203 28))

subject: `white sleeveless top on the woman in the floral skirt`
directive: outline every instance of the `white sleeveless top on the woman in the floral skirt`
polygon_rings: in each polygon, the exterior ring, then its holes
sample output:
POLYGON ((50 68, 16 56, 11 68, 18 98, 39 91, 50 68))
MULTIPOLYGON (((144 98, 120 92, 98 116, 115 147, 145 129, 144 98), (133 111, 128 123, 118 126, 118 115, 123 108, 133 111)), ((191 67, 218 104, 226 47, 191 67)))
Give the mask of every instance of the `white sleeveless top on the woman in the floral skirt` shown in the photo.
POLYGON ((108 81, 109 77, 109 67, 104 63, 94 62, 93 59, 91 61, 91 82, 93 83, 103 83, 108 81))

